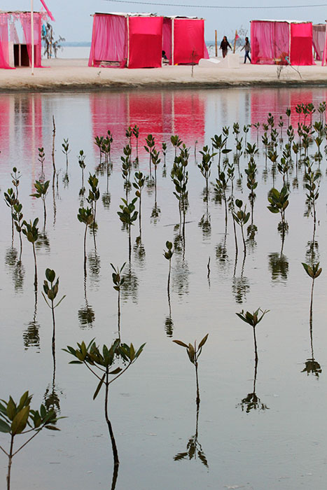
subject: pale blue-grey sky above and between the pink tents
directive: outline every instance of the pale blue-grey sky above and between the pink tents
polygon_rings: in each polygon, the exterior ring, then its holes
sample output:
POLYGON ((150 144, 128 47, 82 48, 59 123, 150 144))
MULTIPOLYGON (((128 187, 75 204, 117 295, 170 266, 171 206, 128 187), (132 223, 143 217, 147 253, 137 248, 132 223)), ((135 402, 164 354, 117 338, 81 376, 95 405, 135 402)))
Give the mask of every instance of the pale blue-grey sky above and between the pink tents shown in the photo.
MULTIPOLYGON (((90 41, 92 36, 92 13, 95 12, 151 12, 159 15, 193 15, 205 21, 205 39, 218 40, 224 35, 234 38, 235 29, 245 29, 250 34, 250 20, 310 20, 314 24, 327 19, 327 1, 323 0, 155 0, 160 5, 121 3, 112 0, 45 0, 53 13, 55 36, 66 41, 90 41), (172 5, 165 6, 164 3, 172 5), (188 5, 185 6, 176 6, 188 5), (197 6, 192 8, 191 6, 197 6), (200 6, 201 5, 201 6, 200 6), (300 7, 309 5, 309 8, 300 7), (314 5, 320 5, 314 7, 314 5), (323 6, 324 5, 324 6, 323 6), (205 8, 221 6, 223 8, 205 8), (275 6, 277 8, 270 8, 275 6), (291 8, 283 8, 288 6, 291 8), (247 7, 247 8, 244 8, 247 7), (249 8, 253 7, 253 8, 249 8)), ((1 0, 1 10, 30 10, 31 0, 1 0)), ((41 1, 34 0, 34 10, 41 10, 41 1)))

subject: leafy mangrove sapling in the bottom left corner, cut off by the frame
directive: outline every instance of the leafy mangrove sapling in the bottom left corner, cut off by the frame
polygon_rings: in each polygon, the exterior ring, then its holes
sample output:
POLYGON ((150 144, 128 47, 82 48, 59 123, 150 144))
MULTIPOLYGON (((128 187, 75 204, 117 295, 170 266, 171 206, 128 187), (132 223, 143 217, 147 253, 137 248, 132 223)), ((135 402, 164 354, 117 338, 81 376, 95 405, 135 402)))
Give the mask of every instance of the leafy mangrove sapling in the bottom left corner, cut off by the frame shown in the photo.
POLYGON ((1 400, 0 402, 0 432, 7 433, 11 437, 10 448, 8 451, 0 446, 1 451, 8 457, 6 489, 11 489, 11 465, 13 457, 26 446, 43 428, 50 430, 60 430, 54 424, 63 417, 55 415, 53 410, 47 410, 44 405, 41 405, 39 410, 34 410, 30 407, 32 396, 28 391, 21 396, 20 402, 16 403, 11 396, 8 402, 1 400), (17 435, 28 434, 27 440, 14 450, 15 437, 17 435))

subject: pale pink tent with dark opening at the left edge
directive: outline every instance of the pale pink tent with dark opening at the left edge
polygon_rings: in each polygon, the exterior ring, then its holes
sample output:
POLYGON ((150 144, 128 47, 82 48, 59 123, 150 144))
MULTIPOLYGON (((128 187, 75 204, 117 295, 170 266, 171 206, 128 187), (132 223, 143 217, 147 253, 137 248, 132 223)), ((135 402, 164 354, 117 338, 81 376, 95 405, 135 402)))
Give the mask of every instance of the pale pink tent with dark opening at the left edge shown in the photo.
MULTIPOLYGON (((48 15, 34 12, 34 66, 41 66, 41 27, 48 15)), ((11 69, 22 64, 25 48, 27 64, 32 64, 32 31, 30 12, 0 12, 0 68, 11 69), (15 22, 22 25, 22 39, 18 38, 15 22)))

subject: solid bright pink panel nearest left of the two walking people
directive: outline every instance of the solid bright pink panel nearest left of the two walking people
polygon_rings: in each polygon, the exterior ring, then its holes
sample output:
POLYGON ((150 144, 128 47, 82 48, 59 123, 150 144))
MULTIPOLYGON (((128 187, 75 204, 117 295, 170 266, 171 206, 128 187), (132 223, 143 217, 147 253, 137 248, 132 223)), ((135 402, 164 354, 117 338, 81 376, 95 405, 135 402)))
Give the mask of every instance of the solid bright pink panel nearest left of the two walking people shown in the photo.
POLYGON ((198 63, 204 52, 204 20, 174 20, 174 64, 198 63))

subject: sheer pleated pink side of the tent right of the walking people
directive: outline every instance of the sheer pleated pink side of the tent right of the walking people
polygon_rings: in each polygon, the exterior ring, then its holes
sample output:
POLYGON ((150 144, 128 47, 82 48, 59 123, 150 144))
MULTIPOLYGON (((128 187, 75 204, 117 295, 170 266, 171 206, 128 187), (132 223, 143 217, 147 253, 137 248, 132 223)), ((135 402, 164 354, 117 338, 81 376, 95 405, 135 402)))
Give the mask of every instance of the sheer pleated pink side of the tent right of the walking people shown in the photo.
POLYGON ((275 64, 289 56, 288 22, 251 22, 251 58, 253 64, 275 64))

